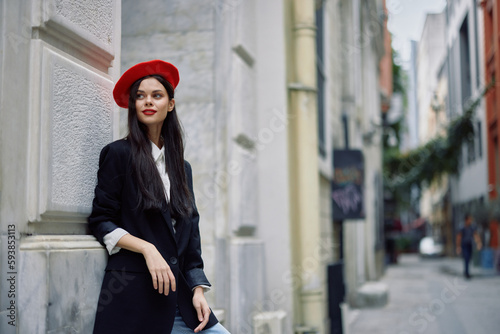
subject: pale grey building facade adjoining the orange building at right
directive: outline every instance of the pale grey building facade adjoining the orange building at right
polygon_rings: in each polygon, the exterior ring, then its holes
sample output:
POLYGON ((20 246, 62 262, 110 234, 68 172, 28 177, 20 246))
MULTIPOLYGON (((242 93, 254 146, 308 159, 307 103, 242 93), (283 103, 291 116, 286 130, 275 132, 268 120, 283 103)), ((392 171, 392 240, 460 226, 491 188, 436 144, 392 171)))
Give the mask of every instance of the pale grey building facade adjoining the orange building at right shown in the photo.
MULTIPOLYGON (((484 76, 483 15, 477 1, 448 1, 446 6, 448 49, 449 119, 461 115, 470 100, 478 98, 487 84, 484 76)), ((450 199, 454 232, 463 216, 487 201, 488 157, 484 99, 474 113, 473 142, 464 145, 459 173, 450 178, 450 199)))

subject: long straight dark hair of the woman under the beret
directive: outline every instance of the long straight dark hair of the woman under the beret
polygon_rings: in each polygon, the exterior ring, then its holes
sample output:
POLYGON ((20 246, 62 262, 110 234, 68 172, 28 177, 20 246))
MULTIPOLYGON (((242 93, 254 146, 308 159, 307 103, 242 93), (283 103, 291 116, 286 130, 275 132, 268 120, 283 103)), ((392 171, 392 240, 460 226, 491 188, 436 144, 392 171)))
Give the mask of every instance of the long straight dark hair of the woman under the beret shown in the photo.
MULTIPOLYGON (((165 190, 151 154, 151 142, 148 137, 148 128, 137 118, 135 102, 137 91, 142 80, 155 78, 167 90, 168 97, 174 98, 174 89, 170 83, 159 75, 143 77, 130 87, 128 102, 127 139, 132 147, 132 174, 138 190, 138 208, 142 210, 161 210, 165 208, 165 190)), ((183 131, 175 106, 167 113, 161 128, 165 147, 165 168, 170 179, 170 201, 167 204, 174 217, 188 216, 193 210, 193 197, 189 191, 184 169, 184 140, 183 131)))

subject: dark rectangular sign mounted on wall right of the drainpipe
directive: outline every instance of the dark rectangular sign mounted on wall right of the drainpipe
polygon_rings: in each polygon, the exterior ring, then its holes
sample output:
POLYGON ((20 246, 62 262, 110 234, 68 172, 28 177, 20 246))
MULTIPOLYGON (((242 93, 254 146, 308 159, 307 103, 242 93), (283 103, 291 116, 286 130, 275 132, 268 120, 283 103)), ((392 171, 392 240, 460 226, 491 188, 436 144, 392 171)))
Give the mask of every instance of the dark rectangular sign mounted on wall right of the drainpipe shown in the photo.
POLYGON ((334 150, 333 168, 333 218, 335 220, 364 218, 363 153, 360 150, 334 150))

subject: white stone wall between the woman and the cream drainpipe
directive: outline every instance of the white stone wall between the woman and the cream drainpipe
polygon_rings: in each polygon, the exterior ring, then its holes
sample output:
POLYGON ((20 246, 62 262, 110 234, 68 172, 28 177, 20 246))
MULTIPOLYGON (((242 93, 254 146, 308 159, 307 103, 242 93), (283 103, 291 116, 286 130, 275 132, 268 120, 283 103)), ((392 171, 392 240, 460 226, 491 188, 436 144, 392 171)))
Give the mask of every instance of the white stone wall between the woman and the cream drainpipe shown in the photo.
POLYGON ((156 58, 179 68, 207 299, 250 333, 257 313, 291 310, 283 4, 124 0, 122 15, 122 72, 156 58))

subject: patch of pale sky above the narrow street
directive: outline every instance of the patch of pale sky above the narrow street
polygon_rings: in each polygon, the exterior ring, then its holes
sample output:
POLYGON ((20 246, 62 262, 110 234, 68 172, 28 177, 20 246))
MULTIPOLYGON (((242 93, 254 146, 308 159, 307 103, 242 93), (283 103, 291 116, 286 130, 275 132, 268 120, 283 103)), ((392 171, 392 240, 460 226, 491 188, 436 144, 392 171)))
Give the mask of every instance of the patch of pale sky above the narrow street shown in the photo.
POLYGON ((420 40, 427 13, 439 13, 446 0, 386 0, 389 12, 387 27, 392 34, 392 47, 406 67, 410 59, 410 41, 420 40))

